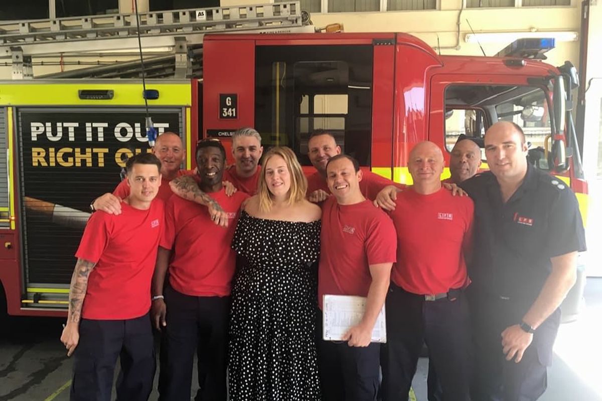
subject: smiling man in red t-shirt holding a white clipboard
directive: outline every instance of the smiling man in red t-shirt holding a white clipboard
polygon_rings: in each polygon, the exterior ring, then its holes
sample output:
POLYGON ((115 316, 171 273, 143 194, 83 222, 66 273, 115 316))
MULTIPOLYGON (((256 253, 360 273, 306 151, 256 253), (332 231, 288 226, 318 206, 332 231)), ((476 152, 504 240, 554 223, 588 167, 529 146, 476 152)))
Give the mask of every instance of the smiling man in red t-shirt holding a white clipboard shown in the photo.
POLYGON ((334 156, 326 171, 334 197, 322 206, 318 303, 322 308, 324 295, 364 296, 367 302, 361 322, 343 336, 345 342, 318 341, 322 393, 327 400, 375 400, 380 344, 371 343, 371 334, 396 260, 395 228, 362 195, 362 171, 355 159, 334 156))

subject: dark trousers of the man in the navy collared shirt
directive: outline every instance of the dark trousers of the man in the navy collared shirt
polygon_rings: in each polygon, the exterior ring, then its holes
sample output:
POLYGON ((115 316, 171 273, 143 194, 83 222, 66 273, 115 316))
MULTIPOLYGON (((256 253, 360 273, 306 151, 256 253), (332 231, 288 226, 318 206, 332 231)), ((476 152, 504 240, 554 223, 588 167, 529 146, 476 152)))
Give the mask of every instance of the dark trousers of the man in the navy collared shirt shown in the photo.
POLYGON ((471 297, 475 370, 473 399, 479 401, 534 401, 547 388, 547 367, 560 325, 560 310, 542 323, 520 363, 506 361, 501 332, 520 323, 524 307, 512 301, 471 297))

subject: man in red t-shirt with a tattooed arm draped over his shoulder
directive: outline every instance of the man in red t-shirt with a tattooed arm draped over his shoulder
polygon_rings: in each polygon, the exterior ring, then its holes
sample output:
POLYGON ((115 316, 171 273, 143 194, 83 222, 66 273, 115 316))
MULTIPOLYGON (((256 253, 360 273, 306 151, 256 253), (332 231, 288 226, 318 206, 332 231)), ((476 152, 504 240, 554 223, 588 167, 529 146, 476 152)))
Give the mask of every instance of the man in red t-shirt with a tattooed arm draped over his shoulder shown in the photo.
POLYGON ((199 191, 219 202, 231 221, 228 228, 219 227, 207 207, 177 196, 167 201, 152 284, 152 318, 163 331, 159 393, 160 400, 190 400, 197 349, 196 399, 226 401, 230 283, 236 265, 231 243, 241 203, 249 195, 226 195, 226 151, 219 141, 199 142, 196 161, 199 191))

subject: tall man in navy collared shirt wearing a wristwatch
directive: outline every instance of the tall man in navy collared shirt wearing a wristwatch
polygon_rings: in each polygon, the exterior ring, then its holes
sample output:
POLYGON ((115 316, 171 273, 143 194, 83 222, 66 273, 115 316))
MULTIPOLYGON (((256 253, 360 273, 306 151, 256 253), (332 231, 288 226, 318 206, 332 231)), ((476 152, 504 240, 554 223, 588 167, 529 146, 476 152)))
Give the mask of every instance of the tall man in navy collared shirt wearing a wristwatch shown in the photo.
POLYGON ((583 222, 573 191, 527 162, 520 126, 489 127, 485 156, 491 171, 461 184, 476 215, 468 266, 473 400, 536 400, 547 387, 559 306, 585 251, 583 222))

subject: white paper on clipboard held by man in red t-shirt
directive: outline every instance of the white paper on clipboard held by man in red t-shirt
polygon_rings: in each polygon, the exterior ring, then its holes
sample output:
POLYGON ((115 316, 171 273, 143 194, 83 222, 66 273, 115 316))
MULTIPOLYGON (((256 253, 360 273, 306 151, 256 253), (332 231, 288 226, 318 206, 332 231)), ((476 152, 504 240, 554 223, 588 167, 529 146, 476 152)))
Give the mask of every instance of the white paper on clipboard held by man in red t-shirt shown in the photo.
MULTIPOLYGON (((324 295, 323 302, 323 338, 326 341, 342 341, 343 334, 358 324, 366 310, 365 296, 324 295)), ((386 343, 385 305, 374 324, 372 342, 386 343)))

